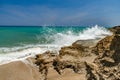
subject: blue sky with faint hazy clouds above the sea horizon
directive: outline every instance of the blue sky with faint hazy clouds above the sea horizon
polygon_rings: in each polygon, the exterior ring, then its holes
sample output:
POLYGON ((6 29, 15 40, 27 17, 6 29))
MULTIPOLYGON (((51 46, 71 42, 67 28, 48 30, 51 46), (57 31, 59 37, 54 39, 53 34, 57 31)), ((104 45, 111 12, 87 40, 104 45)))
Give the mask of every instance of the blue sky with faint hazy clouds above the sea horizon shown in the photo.
POLYGON ((120 25, 120 0, 0 0, 0 25, 120 25))

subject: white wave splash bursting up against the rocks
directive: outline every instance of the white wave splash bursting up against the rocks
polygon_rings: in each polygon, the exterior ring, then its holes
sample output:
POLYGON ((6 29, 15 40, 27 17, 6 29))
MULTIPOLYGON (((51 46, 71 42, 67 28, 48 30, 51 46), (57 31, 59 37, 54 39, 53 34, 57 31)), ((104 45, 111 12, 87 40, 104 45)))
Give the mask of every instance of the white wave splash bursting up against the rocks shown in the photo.
POLYGON ((73 31, 67 31, 66 33, 57 33, 50 38, 54 39, 52 44, 65 46, 70 45, 77 40, 100 39, 111 34, 112 33, 106 28, 96 25, 94 27, 86 28, 78 34, 73 33, 73 31))

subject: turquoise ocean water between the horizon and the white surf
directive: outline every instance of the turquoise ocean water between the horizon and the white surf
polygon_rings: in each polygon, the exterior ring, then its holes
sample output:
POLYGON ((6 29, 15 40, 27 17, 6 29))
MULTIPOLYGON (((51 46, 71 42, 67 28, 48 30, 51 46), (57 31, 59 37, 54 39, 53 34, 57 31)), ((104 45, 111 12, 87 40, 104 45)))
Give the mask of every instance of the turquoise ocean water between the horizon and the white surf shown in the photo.
POLYGON ((57 33, 79 33, 85 26, 0 26, 0 47, 49 44, 57 33))

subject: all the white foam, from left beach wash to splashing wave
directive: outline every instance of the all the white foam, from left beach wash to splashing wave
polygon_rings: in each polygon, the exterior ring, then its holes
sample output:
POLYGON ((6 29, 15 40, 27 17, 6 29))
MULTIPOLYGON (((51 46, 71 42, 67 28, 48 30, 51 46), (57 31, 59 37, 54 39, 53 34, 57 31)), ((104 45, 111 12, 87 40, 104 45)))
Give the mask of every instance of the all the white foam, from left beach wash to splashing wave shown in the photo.
MULTIPOLYGON (((78 34, 68 30, 66 33, 56 33, 50 38, 54 39, 51 44, 47 45, 27 45, 13 48, 0 48, 0 64, 8 63, 15 60, 23 60, 27 57, 43 53, 47 50, 59 50, 61 46, 71 45, 77 40, 87 40, 104 38, 112 33, 98 25, 87 28, 78 34), (3 53, 3 54, 1 54, 3 53)), ((50 40, 50 39, 49 39, 50 40)))

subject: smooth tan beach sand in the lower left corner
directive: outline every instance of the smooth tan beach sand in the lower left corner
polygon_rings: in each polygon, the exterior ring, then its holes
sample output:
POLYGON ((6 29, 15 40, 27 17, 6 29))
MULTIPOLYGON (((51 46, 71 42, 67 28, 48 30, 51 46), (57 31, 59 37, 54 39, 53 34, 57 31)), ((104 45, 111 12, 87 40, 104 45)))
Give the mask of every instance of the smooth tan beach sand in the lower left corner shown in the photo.
POLYGON ((40 80, 40 77, 35 66, 22 61, 0 65, 0 80, 40 80))

